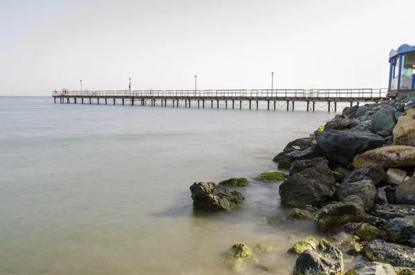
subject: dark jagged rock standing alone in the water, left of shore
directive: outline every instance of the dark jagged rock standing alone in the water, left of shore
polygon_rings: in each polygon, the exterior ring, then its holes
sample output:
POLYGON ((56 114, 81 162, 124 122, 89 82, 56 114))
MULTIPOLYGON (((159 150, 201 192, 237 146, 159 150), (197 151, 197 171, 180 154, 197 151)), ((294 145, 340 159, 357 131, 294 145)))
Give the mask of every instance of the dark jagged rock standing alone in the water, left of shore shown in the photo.
POLYGON ((190 186, 193 204, 211 211, 228 210, 241 204, 245 197, 237 191, 230 191, 213 182, 196 182, 190 186))

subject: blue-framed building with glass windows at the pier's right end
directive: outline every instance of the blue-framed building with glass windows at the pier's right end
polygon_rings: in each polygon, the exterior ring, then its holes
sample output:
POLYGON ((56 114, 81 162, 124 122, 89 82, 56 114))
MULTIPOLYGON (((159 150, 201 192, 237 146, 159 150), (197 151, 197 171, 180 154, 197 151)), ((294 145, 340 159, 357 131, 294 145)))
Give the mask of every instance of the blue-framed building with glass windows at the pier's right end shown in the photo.
POLYGON ((415 46, 403 44, 389 53, 388 95, 415 89, 415 46))

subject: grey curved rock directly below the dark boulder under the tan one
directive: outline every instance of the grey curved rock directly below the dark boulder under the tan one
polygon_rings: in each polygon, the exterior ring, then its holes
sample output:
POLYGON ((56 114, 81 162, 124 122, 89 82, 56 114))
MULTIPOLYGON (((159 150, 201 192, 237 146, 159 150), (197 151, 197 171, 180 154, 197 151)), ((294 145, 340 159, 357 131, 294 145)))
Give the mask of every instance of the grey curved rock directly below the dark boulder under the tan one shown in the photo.
POLYGON ((363 179, 340 185, 337 195, 340 200, 345 199, 349 195, 357 195, 365 204, 365 210, 370 210, 374 207, 376 187, 370 179, 363 179))

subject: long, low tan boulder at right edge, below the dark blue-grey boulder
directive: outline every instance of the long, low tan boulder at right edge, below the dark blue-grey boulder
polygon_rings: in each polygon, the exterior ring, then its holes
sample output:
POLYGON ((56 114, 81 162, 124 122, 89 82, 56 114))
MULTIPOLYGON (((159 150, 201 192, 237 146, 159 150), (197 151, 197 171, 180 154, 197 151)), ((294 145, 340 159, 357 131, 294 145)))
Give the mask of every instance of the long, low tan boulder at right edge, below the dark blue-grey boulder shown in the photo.
POLYGON ((394 145, 359 154, 353 159, 353 166, 379 164, 384 168, 415 166, 415 148, 411 146, 394 145))

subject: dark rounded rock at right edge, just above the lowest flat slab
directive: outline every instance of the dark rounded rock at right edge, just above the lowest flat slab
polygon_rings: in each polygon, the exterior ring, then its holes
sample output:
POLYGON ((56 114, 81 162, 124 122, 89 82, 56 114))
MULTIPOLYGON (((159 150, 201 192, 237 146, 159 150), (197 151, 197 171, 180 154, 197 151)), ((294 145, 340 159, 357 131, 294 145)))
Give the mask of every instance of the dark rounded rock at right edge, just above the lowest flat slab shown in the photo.
POLYGON ((383 230, 385 230, 389 239, 396 243, 407 242, 415 234, 414 222, 403 218, 385 221, 383 230))

